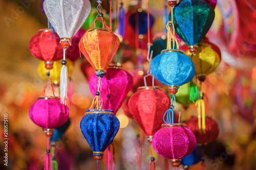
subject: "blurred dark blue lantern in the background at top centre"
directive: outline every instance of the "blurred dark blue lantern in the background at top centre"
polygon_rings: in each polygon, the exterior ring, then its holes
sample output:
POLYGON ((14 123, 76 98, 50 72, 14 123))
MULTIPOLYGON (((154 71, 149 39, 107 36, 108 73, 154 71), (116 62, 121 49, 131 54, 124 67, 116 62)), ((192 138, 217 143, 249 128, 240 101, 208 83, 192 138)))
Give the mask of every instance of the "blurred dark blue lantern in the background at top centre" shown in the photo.
MULTIPOLYGON (((154 17, 150 15, 150 28, 154 24, 154 17)), ((146 34, 147 33, 147 13, 142 12, 135 12, 129 18, 129 23, 133 27, 136 32, 136 25, 138 24, 139 27, 139 34, 146 34)))

